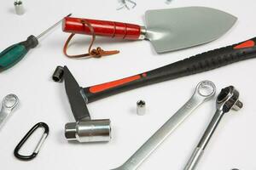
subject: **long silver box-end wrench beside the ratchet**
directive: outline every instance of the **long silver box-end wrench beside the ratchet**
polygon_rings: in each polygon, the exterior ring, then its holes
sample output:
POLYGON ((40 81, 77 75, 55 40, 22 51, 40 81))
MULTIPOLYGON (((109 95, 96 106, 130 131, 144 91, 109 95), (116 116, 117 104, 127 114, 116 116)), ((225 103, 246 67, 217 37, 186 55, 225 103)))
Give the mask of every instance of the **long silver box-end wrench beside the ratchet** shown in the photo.
POLYGON ((139 165, 193 112, 205 101, 212 99, 216 92, 210 81, 200 82, 195 93, 143 146, 125 163, 114 170, 135 170, 139 165))

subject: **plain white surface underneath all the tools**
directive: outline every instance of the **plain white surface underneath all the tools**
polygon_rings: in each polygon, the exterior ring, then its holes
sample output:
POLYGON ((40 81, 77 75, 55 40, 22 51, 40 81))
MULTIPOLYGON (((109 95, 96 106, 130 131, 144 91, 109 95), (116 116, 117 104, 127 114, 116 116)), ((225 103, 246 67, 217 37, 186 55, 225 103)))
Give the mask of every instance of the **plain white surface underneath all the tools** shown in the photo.
MULTIPOLYGON (((55 29, 40 39, 38 48, 27 54, 19 64, 1 72, 0 98, 10 93, 17 94, 20 98, 19 107, 0 132, 1 169, 108 170, 118 167, 189 99, 195 85, 205 79, 215 82, 218 92, 221 88, 234 85, 241 93, 244 108, 237 112, 230 111, 224 116, 198 169, 256 169, 256 59, 138 88, 91 103, 88 107, 93 119, 111 119, 113 139, 106 144, 70 144, 66 141, 63 134, 64 125, 74 119, 63 84, 51 80, 56 65, 68 65, 79 84, 87 87, 132 76, 210 49, 241 42, 254 37, 256 33, 255 0, 173 0, 169 5, 165 0, 135 1, 137 7, 133 10, 118 11, 117 0, 24 0, 26 14, 18 16, 14 14, 13 2, 2 0, 0 48, 7 48, 31 34, 38 35, 69 13, 76 17, 143 25, 143 14, 147 9, 207 6, 234 14, 238 21, 228 33, 214 42, 167 54, 156 54, 151 44, 146 41, 120 42, 98 39, 97 42, 100 42, 102 48, 121 51, 120 54, 102 59, 68 59, 62 54, 68 34, 63 33, 60 27, 55 29), (138 99, 147 102, 145 116, 136 114, 138 99), (37 122, 49 124, 49 138, 36 159, 19 161, 13 155, 13 150, 37 122)), ((78 36, 76 43, 70 48, 70 53, 79 54, 86 51, 89 38, 78 36)), ((201 105, 139 169, 182 169, 214 112, 215 99, 201 105)), ((40 131, 37 134, 39 135, 40 131)), ((23 154, 31 153, 38 142, 38 135, 33 136, 34 138, 24 146, 26 148, 21 150, 23 154)))

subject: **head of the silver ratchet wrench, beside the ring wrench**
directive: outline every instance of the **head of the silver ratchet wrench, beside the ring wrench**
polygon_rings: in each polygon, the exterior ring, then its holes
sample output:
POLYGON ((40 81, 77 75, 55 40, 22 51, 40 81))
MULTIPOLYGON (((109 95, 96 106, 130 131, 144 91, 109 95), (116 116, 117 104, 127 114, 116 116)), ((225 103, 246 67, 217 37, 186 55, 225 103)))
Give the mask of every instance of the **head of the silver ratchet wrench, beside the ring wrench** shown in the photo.
POLYGON ((243 104, 239 101, 239 92, 233 86, 223 88, 218 94, 217 109, 224 111, 224 113, 233 109, 238 111, 242 108, 243 104))

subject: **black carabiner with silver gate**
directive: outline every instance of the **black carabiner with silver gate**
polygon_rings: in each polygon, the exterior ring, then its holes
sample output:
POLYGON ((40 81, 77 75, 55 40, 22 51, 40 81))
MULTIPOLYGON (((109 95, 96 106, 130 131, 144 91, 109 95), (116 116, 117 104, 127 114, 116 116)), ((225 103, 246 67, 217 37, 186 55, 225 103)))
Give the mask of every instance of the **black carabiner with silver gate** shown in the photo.
POLYGON ((48 125, 44 122, 38 122, 35 126, 33 126, 28 131, 28 133, 26 133, 26 135, 23 137, 23 139, 20 140, 20 143, 15 147, 15 151, 14 151, 15 157, 22 161, 30 161, 33 158, 35 158, 38 155, 38 151, 40 150, 40 148, 41 148, 42 144, 44 143, 44 140, 47 138, 48 134, 49 134, 48 125), (33 151, 31 156, 21 156, 19 154, 20 148, 26 142, 26 140, 32 135, 32 133, 34 133, 35 130, 37 130, 38 127, 44 127, 44 134, 43 134, 42 138, 39 140, 36 149, 33 151))

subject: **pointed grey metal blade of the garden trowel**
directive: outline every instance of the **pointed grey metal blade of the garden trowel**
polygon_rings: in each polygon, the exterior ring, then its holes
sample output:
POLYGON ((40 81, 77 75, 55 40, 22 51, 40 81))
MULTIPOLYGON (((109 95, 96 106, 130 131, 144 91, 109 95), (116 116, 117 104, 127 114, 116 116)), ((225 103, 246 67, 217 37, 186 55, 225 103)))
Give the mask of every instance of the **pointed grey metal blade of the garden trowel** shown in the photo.
POLYGON ((224 35, 237 18, 215 8, 185 7, 148 10, 146 38, 157 53, 211 42, 224 35))

